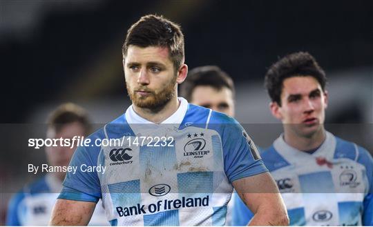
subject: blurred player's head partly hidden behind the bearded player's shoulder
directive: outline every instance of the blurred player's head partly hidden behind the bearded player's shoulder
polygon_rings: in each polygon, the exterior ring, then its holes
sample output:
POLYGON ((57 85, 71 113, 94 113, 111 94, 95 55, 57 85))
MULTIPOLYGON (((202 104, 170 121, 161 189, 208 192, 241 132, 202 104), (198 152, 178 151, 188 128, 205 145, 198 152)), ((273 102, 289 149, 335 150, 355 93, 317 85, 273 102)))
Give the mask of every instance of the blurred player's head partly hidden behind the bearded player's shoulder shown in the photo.
POLYGON ((218 66, 200 66, 188 72, 180 95, 190 103, 234 117, 234 85, 218 66))

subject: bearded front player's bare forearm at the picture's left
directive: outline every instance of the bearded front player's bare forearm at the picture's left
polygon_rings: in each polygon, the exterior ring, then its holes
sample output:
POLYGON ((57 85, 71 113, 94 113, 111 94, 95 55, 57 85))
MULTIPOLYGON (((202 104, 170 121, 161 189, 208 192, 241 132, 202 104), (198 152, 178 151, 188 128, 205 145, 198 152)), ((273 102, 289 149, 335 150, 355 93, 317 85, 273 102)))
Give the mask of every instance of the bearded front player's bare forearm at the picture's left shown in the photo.
POLYGON ((96 203, 57 199, 50 218, 50 226, 86 226, 95 211, 96 203))

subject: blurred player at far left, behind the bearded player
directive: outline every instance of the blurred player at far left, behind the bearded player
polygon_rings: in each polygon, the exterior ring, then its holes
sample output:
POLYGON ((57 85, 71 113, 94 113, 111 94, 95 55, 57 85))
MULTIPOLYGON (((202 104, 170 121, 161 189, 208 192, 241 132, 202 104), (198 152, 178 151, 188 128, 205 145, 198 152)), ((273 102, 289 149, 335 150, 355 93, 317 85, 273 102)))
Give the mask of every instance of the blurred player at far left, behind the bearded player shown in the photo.
MULTIPOLYGON (((73 103, 59 106, 48 119, 47 138, 73 139, 88 135, 90 129, 86 111, 73 103)), ((46 156, 50 166, 68 166, 76 147, 48 146, 46 156)), ((10 201, 6 224, 8 226, 46 226, 52 214, 66 172, 48 172, 41 179, 23 187, 10 201)), ((104 210, 97 207, 92 225, 107 225, 104 210)))

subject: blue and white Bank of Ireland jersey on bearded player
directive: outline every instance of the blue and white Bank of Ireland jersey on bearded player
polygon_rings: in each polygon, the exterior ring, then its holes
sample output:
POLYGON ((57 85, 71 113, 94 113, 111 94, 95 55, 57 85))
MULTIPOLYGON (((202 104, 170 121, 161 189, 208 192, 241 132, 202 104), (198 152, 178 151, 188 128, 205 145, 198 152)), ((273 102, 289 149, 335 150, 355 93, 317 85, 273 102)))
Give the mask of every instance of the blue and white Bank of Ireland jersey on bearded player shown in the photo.
POLYGON ((126 139, 120 146, 79 147, 70 166, 105 171, 68 173, 59 198, 102 198, 113 226, 224 225, 231 182, 267 168, 236 120, 179 100, 162 124, 142 119, 130 106, 91 135, 126 139), (144 137, 151 143, 142 143, 144 137))

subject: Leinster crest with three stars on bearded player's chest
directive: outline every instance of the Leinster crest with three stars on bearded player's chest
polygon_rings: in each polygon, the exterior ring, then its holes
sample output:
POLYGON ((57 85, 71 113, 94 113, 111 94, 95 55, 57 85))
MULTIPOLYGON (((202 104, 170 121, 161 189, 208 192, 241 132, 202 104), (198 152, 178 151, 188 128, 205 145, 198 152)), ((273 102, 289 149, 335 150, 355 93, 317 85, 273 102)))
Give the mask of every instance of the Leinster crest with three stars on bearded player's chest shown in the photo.
POLYGON ((185 144, 184 156, 194 156, 194 158, 202 158, 204 157, 204 155, 209 154, 209 150, 204 150, 204 148, 206 147, 206 140, 201 138, 204 137, 204 133, 189 133, 187 137, 194 139, 189 140, 187 144, 185 144))

